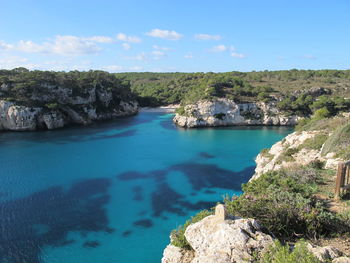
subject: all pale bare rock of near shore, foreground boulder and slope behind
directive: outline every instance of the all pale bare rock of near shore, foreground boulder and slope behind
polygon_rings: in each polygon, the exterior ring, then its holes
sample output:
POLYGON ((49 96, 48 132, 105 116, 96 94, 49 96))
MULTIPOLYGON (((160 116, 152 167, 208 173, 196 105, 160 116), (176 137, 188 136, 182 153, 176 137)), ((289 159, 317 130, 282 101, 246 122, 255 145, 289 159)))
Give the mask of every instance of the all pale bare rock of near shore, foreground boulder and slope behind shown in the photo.
MULTIPOLYGON (((289 134, 256 157, 257 166, 250 182, 267 172, 298 165, 307 166, 314 162, 322 162, 326 169, 335 170, 338 162, 343 160, 336 157, 336 153, 322 152, 326 138, 331 134, 324 130, 289 134), (317 147, 314 147, 316 144, 317 147)), ((185 229, 184 237, 191 249, 175 246, 171 235, 171 242, 164 249, 162 263, 262 262, 256 261, 256 256, 263 255, 271 245, 274 246, 277 239, 255 219, 232 217, 225 215, 225 211, 223 205, 218 205, 215 215, 206 216, 185 229), (219 206, 222 212, 217 211, 219 206)), ((350 258, 336 247, 305 243, 305 249, 320 263, 350 263, 350 258)))

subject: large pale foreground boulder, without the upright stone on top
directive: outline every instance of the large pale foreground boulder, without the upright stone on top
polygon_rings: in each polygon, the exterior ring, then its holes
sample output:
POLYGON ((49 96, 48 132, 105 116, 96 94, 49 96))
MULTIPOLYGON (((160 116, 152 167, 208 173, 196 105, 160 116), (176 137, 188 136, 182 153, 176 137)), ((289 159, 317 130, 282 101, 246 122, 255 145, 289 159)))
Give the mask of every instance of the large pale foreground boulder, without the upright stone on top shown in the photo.
MULTIPOLYGON (((246 263, 273 243, 254 219, 218 221, 214 215, 187 227, 185 237, 194 250, 191 263, 246 263)), ((162 263, 184 263, 182 253, 168 246, 162 263)))

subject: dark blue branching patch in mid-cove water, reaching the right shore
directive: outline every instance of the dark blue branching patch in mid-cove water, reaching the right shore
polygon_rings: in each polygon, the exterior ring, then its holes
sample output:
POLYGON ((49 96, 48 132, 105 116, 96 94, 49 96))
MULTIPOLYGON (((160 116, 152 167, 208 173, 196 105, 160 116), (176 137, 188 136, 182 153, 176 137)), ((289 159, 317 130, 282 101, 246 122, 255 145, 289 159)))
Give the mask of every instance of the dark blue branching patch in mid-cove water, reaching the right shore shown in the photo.
MULTIPOLYGON (((241 184, 251 177, 254 173, 254 168, 254 166, 250 166, 242 171, 234 172, 223 169, 215 164, 185 162, 169 166, 164 170, 155 170, 147 173, 129 171, 119 174, 117 179, 122 181, 154 180, 156 189, 152 193, 151 198, 152 215, 161 217, 164 212, 169 212, 185 216, 189 211, 210 208, 215 205, 215 202, 190 202, 187 196, 176 192, 168 184, 167 175, 170 172, 180 172, 186 176, 192 189, 195 191, 204 190, 205 192, 211 188, 240 191, 241 184)), ((213 191, 210 191, 210 193, 213 193, 213 191)))

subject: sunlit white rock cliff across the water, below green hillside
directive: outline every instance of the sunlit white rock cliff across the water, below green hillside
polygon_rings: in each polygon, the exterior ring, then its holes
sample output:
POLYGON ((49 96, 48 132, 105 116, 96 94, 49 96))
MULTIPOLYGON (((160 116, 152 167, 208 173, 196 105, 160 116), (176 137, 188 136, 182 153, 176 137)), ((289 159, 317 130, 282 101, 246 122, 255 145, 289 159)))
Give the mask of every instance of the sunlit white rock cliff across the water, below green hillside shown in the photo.
POLYGON ((184 107, 173 119, 178 126, 193 128, 230 125, 295 125, 298 116, 287 116, 274 103, 237 104, 229 99, 198 101, 184 107), (180 114, 181 113, 181 114, 180 114))

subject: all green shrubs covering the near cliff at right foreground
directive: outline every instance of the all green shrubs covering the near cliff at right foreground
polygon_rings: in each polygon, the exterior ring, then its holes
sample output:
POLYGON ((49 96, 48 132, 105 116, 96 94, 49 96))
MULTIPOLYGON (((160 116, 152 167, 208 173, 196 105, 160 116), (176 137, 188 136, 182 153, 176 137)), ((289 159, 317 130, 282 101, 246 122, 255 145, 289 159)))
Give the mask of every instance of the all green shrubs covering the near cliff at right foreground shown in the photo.
MULTIPOLYGON (((320 133, 294 148, 295 152, 302 149, 319 151, 322 149, 322 154, 325 155, 335 153, 336 157, 345 160, 350 157, 348 117, 322 118, 315 114, 297 128, 298 131, 317 130, 320 133)), ((268 150, 263 149, 262 152, 266 154, 268 150)), ((285 155, 292 156, 295 152, 285 155)), ((308 165, 282 168, 262 174, 257 179, 242 185, 242 195, 227 196, 224 203, 228 214, 257 219, 266 231, 282 244, 295 243, 300 239, 321 243, 325 239, 342 240, 350 237, 350 196, 349 194, 342 196, 342 200, 335 204, 334 176, 334 170, 325 169, 324 163, 314 160, 308 165)), ((189 223, 190 221, 172 232, 172 244, 189 248, 184 237, 189 223)), ((263 259, 257 260, 294 262, 295 258, 298 258, 300 262, 320 262, 310 253, 304 253, 305 251, 304 245, 291 252, 288 245, 276 243, 263 259)))

